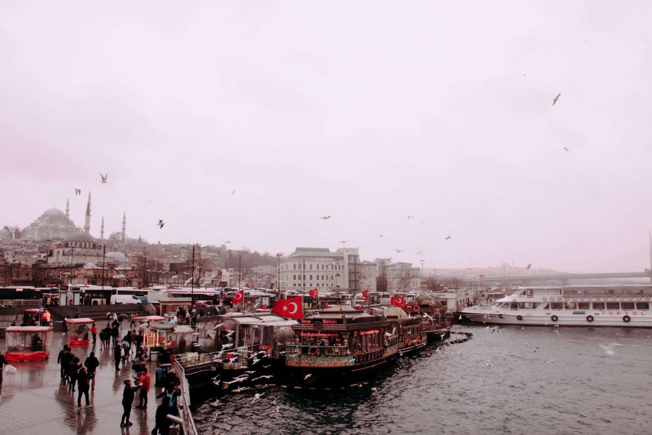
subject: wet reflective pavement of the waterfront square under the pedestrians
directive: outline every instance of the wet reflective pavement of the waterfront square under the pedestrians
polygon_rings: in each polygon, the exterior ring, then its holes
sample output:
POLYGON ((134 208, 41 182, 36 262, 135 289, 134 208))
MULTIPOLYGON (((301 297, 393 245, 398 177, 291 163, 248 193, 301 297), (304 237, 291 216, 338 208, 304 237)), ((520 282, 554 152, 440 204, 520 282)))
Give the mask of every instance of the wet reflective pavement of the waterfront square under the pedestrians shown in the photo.
MULTIPOLYGON (((98 323, 98 328, 101 325, 98 323)), ((129 322, 123 322, 121 337, 127 333, 129 322)), ((123 413, 123 380, 133 379, 131 363, 120 364, 115 371, 113 349, 100 350, 100 339, 96 344, 71 346, 72 353, 81 363, 90 352, 100 360, 95 377, 95 390, 89 391, 90 407, 82 397, 81 408, 77 407, 77 392, 67 391, 61 383, 57 355, 68 342, 67 335, 55 333, 50 347, 50 359, 34 363, 11 363, 17 369, 13 376, 4 376, 0 390, 0 415, 2 431, 6 434, 142 434, 151 433, 156 415, 156 391, 154 387, 156 362, 149 363, 151 375, 149 406, 147 410, 135 408, 139 392, 136 391, 134 408, 130 420, 133 426, 120 427, 123 413), (74 394, 74 396, 73 396, 74 394)), ((4 354, 4 340, 0 340, 4 354)), ((160 390, 161 387, 158 387, 160 390)))

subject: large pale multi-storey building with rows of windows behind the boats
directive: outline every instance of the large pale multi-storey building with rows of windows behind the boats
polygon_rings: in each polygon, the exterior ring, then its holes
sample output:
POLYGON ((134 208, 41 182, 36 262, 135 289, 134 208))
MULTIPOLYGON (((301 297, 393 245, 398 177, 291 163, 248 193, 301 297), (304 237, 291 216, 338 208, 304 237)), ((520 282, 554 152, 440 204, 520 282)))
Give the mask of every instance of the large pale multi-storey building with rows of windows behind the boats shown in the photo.
POLYGON ((281 290, 360 290, 358 248, 297 248, 280 260, 281 290))

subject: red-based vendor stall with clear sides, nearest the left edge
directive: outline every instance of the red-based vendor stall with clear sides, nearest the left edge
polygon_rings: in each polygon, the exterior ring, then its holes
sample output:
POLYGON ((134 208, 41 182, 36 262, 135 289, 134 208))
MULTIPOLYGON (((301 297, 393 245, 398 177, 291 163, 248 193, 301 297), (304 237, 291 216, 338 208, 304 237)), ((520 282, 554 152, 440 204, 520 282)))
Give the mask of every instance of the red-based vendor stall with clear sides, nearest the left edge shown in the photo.
POLYGON ((43 361, 50 356, 52 326, 9 326, 5 330, 7 361, 43 361))

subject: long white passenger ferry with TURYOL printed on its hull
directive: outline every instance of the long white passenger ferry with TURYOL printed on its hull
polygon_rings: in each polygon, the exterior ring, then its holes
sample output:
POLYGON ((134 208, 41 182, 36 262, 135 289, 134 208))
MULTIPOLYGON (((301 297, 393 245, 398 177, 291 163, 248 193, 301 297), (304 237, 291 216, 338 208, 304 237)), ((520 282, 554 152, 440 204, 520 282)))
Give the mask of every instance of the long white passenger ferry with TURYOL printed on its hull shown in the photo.
POLYGON ((652 286, 522 287, 493 305, 463 309, 477 323, 652 328, 652 286))

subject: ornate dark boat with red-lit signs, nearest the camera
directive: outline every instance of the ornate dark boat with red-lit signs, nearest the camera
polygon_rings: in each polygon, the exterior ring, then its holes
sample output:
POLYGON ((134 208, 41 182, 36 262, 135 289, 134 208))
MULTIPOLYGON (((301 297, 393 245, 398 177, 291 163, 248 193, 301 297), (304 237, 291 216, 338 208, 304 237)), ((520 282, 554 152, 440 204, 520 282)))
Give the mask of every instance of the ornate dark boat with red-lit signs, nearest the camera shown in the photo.
POLYGON ((292 326, 285 374, 304 384, 357 381, 398 358, 399 337, 388 319, 334 305, 292 326))

